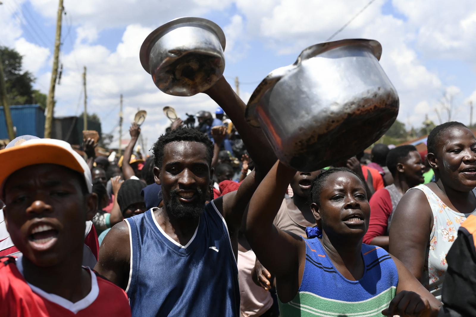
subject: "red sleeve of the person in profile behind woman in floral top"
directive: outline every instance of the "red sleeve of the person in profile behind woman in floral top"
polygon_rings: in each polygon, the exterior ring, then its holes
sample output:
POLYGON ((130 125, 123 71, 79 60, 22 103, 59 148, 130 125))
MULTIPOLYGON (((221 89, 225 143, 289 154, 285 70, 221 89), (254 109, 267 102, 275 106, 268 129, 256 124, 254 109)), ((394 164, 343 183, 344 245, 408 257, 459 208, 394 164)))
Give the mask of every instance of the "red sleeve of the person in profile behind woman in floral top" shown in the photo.
POLYGON ((390 194, 385 188, 375 192, 368 203, 370 204, 370 223, 362 241, 365 244, 371 244, 370 241, 375 237, 387 235, 388 217, 393 210, 390 194))

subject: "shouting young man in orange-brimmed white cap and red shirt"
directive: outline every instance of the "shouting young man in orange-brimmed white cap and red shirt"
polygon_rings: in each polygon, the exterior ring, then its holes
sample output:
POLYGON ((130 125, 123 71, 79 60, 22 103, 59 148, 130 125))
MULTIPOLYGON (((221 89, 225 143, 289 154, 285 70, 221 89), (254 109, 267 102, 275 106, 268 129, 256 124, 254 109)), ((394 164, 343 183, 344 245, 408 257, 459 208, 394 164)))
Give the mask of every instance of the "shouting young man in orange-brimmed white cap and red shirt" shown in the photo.
POLYGON ((5 223, 22 252, 0 259, 0 316, 130 316, 124 292, 81 267, 97 209, 83 158, 64 141, 31 139, 0 151, 0 162, 5 223))

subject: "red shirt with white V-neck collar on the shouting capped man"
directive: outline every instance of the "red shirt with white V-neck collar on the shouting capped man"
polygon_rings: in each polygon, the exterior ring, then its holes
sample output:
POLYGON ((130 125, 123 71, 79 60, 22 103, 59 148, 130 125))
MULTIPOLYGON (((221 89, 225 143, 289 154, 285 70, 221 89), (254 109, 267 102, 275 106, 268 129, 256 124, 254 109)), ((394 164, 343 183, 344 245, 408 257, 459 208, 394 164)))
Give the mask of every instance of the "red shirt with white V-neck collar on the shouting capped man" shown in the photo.
MULTIPOLYGON (((106 279, 91 274, 91 291, 72 303, 28 284, 21 274, 21 258, 0 259, 0 316, 2 317, 130 317, 126 293, 106 279)), ((71 286, 76 287, 76 286, 71 286)))

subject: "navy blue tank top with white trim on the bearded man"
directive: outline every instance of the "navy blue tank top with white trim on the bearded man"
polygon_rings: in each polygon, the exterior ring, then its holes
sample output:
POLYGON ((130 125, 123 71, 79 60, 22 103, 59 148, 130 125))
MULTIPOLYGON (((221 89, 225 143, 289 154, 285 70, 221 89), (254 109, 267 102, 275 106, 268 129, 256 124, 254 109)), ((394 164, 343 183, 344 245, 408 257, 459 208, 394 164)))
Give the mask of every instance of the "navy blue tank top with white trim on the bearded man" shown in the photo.
POLYGON ((239 316, 237 262, 227 224, 213 201, 186 246, 160 228, 155 209, 125 219, 131 245, 126 293, 132 316, 239 316))

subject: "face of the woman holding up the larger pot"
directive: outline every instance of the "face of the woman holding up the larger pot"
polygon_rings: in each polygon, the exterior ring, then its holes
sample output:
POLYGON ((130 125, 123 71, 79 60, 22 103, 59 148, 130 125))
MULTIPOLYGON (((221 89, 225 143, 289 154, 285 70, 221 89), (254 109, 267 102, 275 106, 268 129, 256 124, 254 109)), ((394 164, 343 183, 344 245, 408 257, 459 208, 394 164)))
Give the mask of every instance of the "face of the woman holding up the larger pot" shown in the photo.
POLYGON ((367 232, 370 206, 360 179, 349 172, 336 172, 327 177, 319 197, 319 204, 311 209, 320 221, 323 236, 355 235, 362 238, 367 232))

